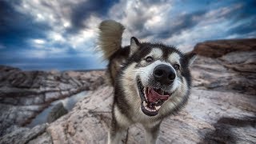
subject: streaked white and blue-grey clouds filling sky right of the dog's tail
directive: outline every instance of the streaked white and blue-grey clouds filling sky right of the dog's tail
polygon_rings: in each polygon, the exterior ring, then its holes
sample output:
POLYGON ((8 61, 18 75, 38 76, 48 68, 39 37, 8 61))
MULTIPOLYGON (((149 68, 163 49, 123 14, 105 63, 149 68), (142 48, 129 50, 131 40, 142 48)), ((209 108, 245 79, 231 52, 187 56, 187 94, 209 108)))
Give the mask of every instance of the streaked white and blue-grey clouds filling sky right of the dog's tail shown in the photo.
POLYGON ((160 41, 187 51, 207 39, 230 38, 231 35, 232 38, 250 38, 256 30, 252 21, 256 16, 249 7, 255 7, 252 3, 255 2, 121 0, 110 9, 109 17, 126 26, 124 45, 129 44, 131 36, 136 36, 142 42, 160 41))

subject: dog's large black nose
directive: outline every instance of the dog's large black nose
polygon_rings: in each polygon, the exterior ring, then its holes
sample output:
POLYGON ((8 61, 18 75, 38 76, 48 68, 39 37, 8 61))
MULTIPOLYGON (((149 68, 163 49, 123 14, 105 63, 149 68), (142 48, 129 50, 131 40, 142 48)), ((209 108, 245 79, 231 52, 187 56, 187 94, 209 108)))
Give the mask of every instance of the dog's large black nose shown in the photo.
POLYGON ((156 66, 153 74, 157 82, 166 85, 170 85, 176 77, 174 69, 164 64, 156 66))

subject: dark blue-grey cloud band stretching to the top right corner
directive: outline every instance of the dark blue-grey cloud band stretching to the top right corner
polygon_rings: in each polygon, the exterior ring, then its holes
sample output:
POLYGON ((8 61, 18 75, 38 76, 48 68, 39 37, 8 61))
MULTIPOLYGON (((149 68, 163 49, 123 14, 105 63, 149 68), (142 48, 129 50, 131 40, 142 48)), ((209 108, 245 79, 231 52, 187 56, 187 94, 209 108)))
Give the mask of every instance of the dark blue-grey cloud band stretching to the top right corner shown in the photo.
POLYGON ((165 25, 158 30, 146 30, 144 25, 145 23, 142 21, 137 21, 130 25, 134 27, 134 30, 138 30, 140 32, 138 34, 139 37, 146 38, 149 35, 154 35, 154 38, 165 39, 171 38, 174 35, 179 35, 184 30, 192 30, 200 22, 207 23, 209 21, 209 24, 207 25, 216 25, 218 22, 222 23, 229 21, 231 28, 230 30, 229 27, 226 27, 226 30, 223 29, 222 35, 239 35, 249 34, 256 30, 255 14, 256 1, 234 2, 224 6, 214 7, 214 9, 204 9, 201 7, 198 11, 189 11, 186 14, 177 14, 175 18, 166 17, 166 19, 170 20, 167 20, 165 25), (211 23, 210 21, 215 22, 211 23), (178 24, 175 24, 175 22, 178 22, 178 24))

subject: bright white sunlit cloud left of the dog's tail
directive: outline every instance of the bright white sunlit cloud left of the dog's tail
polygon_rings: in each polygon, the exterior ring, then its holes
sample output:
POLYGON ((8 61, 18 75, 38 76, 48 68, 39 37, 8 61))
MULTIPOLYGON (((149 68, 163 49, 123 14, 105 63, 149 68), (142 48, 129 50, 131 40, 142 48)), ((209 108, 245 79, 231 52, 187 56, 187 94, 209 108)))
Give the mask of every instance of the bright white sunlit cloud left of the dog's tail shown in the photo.
MULTIPOLYGON (((54 51, 58 51, 58 49, 53 48, 55 45, 73 48, 79 53, 93 51, 98 23, 102 21, 101 18, 91 15, 84 21, 85 29, 74 34, 66 34, 66 30, 72 26, 70 22, 71 8, 79 2, 82 1, 22 0, 22 5, 16 7, 23 14, 33 16, 36 22, 47 22, 51 27, 51 30, 46 31, 46 41, 34 39, 33 42, 30 42, 32 47, 49 50, 48 52, 33 51, 33 53, 38 53, 35 54, 37 57, 42 58, 46 54, 54 54, 54 51)), ((65 50, 59 51, 65 52, 65 50)))

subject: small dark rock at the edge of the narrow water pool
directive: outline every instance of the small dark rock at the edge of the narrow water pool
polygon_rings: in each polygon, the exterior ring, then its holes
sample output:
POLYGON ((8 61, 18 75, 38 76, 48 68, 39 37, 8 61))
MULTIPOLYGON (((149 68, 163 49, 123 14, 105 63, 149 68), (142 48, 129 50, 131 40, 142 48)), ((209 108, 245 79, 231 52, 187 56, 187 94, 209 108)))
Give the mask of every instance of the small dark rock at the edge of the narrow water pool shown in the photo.
POLYGON ((47 116, 47 122, 54 122, 56 119, 60 118, 62 115, 67 114, 67 110, 63 106, 62 102, 58 102, 52 110, 50 110, 50 113, 47 116))

